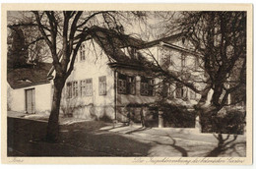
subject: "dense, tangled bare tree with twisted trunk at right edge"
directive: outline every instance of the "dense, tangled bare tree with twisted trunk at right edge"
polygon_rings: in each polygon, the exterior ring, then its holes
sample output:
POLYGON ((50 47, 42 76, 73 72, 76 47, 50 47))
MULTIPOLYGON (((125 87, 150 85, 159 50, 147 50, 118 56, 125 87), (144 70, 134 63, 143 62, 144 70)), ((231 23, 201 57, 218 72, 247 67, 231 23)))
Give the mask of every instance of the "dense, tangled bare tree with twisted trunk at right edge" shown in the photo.
MULTIPOLYGON (((176 74, 157 63, 155 70, 166 82, 183 84, 201 94, 195 106, 202 119, 214 119, 224 106, 245 102, 246 98, 246 13, 181 12, 166 22, 171 32, 181 32, 193 47, 204 71, 203 88, 189 71, 176 74), (209 91, 211 104, 206 106, 209 91), (228 96, 235 97, 228 102, 228 96)), ((155 60, 157 62, 157 60, 155 60)))

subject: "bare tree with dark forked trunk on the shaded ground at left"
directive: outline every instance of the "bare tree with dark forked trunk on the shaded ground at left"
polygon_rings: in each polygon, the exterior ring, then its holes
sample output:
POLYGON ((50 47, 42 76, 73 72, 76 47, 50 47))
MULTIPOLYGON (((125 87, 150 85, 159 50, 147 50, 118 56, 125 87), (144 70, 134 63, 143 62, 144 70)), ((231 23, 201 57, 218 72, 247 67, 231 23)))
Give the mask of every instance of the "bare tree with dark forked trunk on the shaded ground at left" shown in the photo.
MULTIPOLYGON (((37 39, 43 38, 50 51, 55 77, 47 126, 47 141, 57 141, 58 139, 61 93, 66 80, 74 69, 81 44, 90 39, 99 27, 122 33, 124 29, 118 20, 125 18, 124 14, 108 11, 32 11, 32 22, 12 26, 12 28, 25 26, 38 28, 40 36, 37 39)), ((139 18, 143 16, 142 14, 141 12, 127 13, 127 15, 139 18)))

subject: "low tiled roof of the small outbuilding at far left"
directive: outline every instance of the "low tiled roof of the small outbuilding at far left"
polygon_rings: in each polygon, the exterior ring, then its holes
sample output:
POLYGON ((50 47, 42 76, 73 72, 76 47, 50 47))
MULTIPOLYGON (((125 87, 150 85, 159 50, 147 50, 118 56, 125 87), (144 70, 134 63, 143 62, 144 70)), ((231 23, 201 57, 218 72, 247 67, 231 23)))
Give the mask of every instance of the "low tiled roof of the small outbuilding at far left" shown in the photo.
POLYGON ((12 88, 21 88, 36 84, 47 84, 47 74, 51 68, 50 63, 38 63, 25 68, 7 71, 7 82, 12 88))

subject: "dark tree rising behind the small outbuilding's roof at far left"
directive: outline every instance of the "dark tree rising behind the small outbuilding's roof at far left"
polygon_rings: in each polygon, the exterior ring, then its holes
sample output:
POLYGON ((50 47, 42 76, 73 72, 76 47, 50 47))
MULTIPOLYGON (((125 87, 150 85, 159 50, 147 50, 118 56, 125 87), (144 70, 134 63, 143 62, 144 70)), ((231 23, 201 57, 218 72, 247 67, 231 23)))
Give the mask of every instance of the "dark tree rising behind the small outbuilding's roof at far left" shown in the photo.
POLYGON ((49 59, 45 42, 39 30, 32 24, 30 15, 24 15, 19 21, 8 16, 8 22, 8 69, 28 67, 49 59))

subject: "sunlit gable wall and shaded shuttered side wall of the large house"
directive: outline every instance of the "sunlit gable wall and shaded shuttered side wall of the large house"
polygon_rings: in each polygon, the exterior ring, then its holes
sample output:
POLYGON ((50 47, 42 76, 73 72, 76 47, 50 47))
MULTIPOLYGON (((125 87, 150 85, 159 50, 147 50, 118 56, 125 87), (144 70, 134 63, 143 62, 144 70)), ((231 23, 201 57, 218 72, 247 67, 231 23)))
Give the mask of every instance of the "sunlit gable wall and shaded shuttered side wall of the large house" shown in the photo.
MULTIPOLYGON (((155 82, 126 53, 131 49, 121 48, 124 60, 118 60, 95 39, 85 41, 63 90, 62 112, 72 112, 77 118, 127 122, 128 105, 155 102, 155 82)), ((131 107, 140 113, 141 107, 131 107)))

